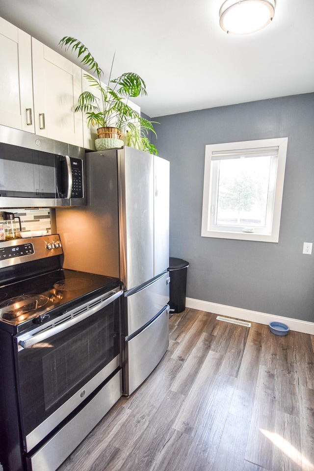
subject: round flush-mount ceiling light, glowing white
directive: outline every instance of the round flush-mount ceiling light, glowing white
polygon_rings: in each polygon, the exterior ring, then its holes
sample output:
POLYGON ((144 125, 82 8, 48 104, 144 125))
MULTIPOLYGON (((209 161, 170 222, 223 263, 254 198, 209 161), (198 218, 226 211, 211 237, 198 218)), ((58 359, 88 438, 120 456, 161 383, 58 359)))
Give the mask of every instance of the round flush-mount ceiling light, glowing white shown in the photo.
POLYGON ((267 26, 275 14, 275 0, 226 0, 220 26, 230 34, 249 34, 267 26))

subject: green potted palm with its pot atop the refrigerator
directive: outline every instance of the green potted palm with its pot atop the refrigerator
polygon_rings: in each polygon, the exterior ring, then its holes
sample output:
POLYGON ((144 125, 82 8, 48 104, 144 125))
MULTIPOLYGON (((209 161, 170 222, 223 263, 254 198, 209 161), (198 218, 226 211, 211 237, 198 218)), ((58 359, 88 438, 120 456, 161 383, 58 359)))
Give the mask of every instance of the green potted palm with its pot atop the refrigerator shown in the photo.
POLYGON ((153 121, 149 121, 129 105, 129 99, 147 95, 144 80, 133 72, 126 72, 118 78, 111 79, 111 64, 109 85, 101 81, 103 70, 89 50, 78 39, 65 36, 59 42, 60 47, 71 48, 76 52, 80 62, 87 66, 91 73, 84 74, 91 87, 100 92, 98 98, 91 91, 84 91, 78 97, 75 111, 87 115, 87 126, 97 127, 98 139, 95 141, 97 150, 109 147, 127 145, 140 150, 157 154, 156 147, 149 141, 149 132, 156 132, 153 121))

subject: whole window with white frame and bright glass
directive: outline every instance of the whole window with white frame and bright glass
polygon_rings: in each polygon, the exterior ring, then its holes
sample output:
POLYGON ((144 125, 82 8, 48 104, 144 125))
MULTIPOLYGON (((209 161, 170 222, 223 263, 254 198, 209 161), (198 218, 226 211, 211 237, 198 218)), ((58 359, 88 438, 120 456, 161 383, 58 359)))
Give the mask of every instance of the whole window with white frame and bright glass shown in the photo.
POLYGON ((287 142, 206 146, 202 236, 278 242, 287 142))

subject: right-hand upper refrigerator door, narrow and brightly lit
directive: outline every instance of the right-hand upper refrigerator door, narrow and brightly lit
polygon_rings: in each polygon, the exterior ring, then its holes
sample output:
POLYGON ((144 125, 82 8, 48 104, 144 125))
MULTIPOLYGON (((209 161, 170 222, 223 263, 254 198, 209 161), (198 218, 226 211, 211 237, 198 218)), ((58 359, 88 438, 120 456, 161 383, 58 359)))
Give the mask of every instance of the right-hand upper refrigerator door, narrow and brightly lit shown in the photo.
POLYGON ((170 162, 154 156, 154 276, 169 266, 170 162))

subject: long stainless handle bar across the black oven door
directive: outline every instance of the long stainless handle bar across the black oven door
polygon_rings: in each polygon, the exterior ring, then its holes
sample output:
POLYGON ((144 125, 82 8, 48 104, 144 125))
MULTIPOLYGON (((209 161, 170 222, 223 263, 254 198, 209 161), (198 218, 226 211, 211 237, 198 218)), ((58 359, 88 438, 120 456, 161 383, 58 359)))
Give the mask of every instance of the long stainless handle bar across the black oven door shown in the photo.
MULTIPOLYGON (((47 330, 44 330, 43 332, 38 332, 38 334, 32 335, 31 332, 29 332, 28 334, 24 334, 24 335, 21 335, 20 337, 17 337, 19 350, 21 349, 21 347, 22 349, 29 348, 32 345, 35 345, 36 343, 40 343, 43 340, 47 340, 50 337, 56 334, 59 334, 60 332, 63 332, 66 329, 69 329, 73 325, 78 324, 78 322, 81 322, 87 317, 97 313, 100 309, 105 308, 106 306, 108 306, 108 304, 112 303, 115 299, 119 298, 122 294, 123 294, 123 290, 119 289, 119 291, 116 291, 114 294, 112 294, 112 296, 109 296, 101 303, 87 309, 82 314, 79 314, 77 317, 72 317, 71 319, 62 322, 61 324, 57 326, 48 328, 47 330)), ((90 304, 93 304, 94 301, 91 301, 90 304)), ((67 314, 72 315, 76 311, 77 309, 74 309, 73 311, 70 311, 67 314)))

